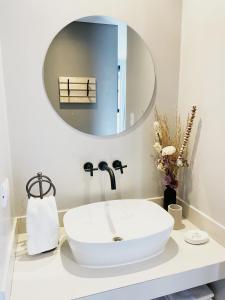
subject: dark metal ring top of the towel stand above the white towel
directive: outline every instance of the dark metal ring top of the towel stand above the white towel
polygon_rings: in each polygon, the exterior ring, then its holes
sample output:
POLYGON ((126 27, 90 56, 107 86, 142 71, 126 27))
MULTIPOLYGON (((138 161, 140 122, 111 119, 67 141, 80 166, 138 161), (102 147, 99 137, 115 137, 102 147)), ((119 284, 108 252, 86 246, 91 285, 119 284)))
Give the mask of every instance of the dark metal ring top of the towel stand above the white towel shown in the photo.
POLYGON ((41 198, 41 199, 43 199, 43 197, 45 195, 47 195, 50 192, 51 189, 53 189, 53 195, 55 196, 56 195, 56 188, 55 188, 54 184, 52 183, 51 179, 48 176, 42 175, 41 172, 37 173, 37 176, 34 176, 30 180, 28 180, 28 182, 26 184, 26 191, 27 191, 28 198, 34 197, 34 198, 41 198), (49 187, 48 187, 48 189, 47 189, 46 192, 43 192, 43 182, 49 184, 49 187), (40 194, 38 194, 38 195, 32 194, 31 193, 31 189, 37 183, 39 185, 40 194))

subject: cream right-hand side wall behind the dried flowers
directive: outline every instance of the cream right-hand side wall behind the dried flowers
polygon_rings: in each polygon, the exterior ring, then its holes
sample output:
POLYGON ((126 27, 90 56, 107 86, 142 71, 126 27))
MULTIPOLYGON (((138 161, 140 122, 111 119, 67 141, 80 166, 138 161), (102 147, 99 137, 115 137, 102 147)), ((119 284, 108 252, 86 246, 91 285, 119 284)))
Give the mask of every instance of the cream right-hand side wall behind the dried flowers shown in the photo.
POLYGON ((182 197, 225 225, 225 1, 184 0, 179 109, 198 106, 182 197))

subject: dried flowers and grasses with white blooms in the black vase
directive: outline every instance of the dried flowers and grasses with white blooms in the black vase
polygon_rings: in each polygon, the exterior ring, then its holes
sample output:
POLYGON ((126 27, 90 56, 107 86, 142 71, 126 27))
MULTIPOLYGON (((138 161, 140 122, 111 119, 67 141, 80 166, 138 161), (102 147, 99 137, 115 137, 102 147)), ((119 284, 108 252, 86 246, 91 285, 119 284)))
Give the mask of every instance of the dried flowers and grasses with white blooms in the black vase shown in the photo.
POLYGON ((155 113, 155 160, 157 169, 163 173, 163 185, 166 187, 176 189, 179 169, 188 166, 187 146, 196 110, 196 106, 192 106, 191 115, 187 118, 186 130, 182 129, 180 117, 177 117, 176 130, 173 136, 170 134, 166 116, 160 115, 157 111, 155 113))

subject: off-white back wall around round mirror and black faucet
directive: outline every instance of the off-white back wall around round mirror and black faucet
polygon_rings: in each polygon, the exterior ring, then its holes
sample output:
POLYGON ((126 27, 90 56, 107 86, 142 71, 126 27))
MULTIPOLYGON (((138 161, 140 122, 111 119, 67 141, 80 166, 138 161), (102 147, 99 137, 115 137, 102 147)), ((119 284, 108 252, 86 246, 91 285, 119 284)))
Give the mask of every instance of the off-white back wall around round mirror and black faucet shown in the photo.
POLYGON ((116 138, 83 134, 53 111, 44 91, 42 66, 48 45, 65 24, 87 15, 108 15, 127 22, 149 46, 156 67, 155 102, 175 114, 178 95, 180 0, 40 0, 3 1, 0 18, 8 100, 16 212, 25 212, 25 183, 42 170, 57 187, 59 208, 103 198, 158 196, 152 161, 152 116, 116 138), (107 174, 93 178, 82 166, 105 159, 128 164, 116 174, 110 191, 107 174))

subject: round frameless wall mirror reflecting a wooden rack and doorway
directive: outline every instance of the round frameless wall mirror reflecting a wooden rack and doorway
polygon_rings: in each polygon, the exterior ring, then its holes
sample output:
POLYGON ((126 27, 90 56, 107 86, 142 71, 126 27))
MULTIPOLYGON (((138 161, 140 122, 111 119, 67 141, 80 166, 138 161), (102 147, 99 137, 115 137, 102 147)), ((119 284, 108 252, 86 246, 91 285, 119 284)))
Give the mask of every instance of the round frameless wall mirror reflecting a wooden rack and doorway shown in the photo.
POLYGON ((155 85, 142 38, 109 17, 64 27, 49 46, 43 71, 48 98, 62 119, 99 136, 119 134, 140 120, 155 85))

